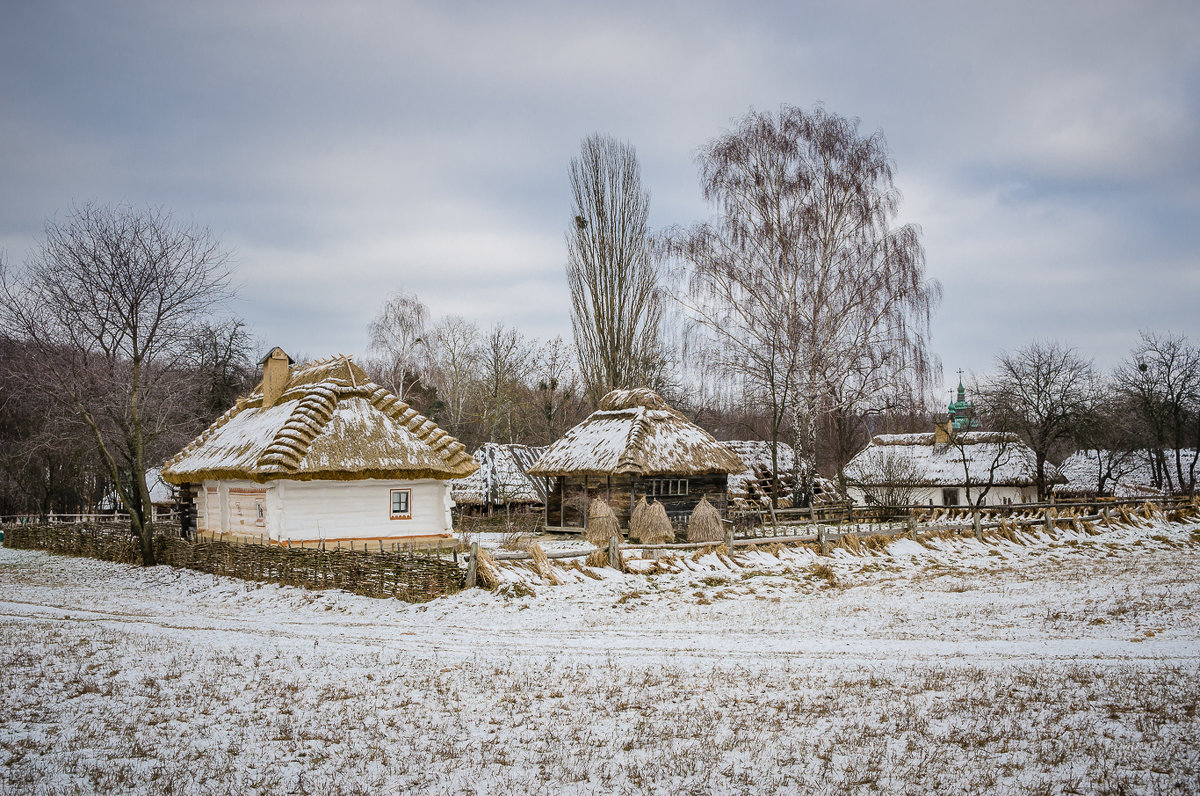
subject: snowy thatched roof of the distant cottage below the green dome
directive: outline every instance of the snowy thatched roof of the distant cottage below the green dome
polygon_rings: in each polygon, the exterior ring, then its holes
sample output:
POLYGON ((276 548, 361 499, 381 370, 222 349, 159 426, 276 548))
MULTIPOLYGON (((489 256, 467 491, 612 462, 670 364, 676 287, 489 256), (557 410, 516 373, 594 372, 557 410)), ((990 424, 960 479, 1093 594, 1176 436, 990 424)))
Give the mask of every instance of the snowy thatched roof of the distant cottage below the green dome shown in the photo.
MULTIPOLYGON (((846 477, 869 485, 889 485, 900 479, 911 486, 960 486, 968 473, 972 483, 986 483, 995 465, 991 483, 996 486, 1036 483, 1033 451, 1016 435, 967 431, 958 439, 961 448, 937 442, 934 433, 878 435, 850 460, 846 477)), ((1063 480, 1054 465, 1046 462, 1045 467, 1050 483, 1063 480)))

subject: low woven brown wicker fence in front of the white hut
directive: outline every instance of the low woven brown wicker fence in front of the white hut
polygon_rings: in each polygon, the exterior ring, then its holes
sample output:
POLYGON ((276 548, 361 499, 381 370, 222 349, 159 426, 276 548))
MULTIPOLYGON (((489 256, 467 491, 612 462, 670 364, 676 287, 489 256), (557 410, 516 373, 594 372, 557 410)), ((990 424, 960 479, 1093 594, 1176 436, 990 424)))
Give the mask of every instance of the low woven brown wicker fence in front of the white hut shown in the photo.
MULTIPOLYGON (((140 564, 142 552, 128 526, 6 526, 4 544, 22 550, 140 564)), ((320 550, 229 541, 155 539, 158 563, 214 575, 305 588, 341 588, 366 597, 424 603, 464 588, 466 571, 436 552, 320 550)))

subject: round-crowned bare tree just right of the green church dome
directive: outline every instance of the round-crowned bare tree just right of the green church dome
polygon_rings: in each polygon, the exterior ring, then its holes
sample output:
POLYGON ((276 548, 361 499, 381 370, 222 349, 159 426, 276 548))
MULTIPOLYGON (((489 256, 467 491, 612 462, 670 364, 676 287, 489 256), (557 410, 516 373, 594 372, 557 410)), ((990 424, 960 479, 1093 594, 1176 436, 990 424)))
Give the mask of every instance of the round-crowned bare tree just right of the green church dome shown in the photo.
POLYGON ((980 389, 995 421, 1033 450, 1038 499, 1046 499, 1046 461, 1062 453, 1098 400, 1096 369, 1056 341, 1033 342, 996 358, 996 375, 980 389))

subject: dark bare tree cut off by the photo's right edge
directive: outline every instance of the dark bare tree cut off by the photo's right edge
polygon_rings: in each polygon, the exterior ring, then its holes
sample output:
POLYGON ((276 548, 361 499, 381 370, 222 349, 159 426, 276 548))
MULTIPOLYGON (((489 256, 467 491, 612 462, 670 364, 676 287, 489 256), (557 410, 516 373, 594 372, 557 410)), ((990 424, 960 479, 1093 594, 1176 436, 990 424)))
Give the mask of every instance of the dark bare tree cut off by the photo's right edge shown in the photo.
POLYGON ((1184 335, 1141 334, 1117 369, 1145 425, 1156 486, 1194 495, 1200 459, 1200 348, 1184 335))

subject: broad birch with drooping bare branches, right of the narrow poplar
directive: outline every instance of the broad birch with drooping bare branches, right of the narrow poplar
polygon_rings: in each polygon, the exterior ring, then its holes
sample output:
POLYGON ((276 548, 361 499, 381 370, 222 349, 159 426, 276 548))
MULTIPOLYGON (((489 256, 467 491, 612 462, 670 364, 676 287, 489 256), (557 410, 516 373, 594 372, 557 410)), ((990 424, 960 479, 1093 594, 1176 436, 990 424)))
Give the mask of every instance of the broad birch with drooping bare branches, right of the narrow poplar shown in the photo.
MULTIPOLYGON (((917 227, 894 226, 883 134, 862 136, 858 120, 751 112, 698 161, 719 217, 667 233, 688 277, 680 301, 779 415, 773 433, 790 414, 798 474, 815 474, 821 417, 936 375, 941 287, 925 279, 917 227)), ((797 484, 810 502, 811 480, 797 484)))

